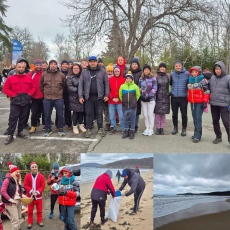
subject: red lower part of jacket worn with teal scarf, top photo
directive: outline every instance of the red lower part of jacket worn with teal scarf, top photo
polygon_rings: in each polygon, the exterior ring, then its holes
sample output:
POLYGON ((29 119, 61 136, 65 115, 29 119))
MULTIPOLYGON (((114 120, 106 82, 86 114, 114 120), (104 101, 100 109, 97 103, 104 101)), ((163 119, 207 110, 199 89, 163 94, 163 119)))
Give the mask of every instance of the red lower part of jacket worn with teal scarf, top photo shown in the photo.
POLYGON ((188 102, 190 103, 208 103, 210 94, 204 94, 201 88, 188 90, 188 102))

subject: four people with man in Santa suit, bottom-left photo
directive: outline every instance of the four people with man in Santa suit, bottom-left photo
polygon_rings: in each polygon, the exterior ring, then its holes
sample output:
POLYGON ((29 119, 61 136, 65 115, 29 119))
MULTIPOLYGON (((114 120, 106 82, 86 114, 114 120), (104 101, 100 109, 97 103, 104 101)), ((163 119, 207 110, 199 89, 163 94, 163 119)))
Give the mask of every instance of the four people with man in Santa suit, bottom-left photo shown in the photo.
MULTIPOLYGON (((1 199, 4 204, 2 210, 7 214, 11 221, 11 229, 20 228, 20 218, 22 211, 21 198, 33 198, 32 203, 28 204, 28 225, 33 226, 33 210, 36 207, 37 224, 44 227, 43 224, 43 191, 46 187, 46 180, 42 173, 38 171, 36 162, 31 162, 30 170, 22 183, 20 169, 11 162, 8 164, 9 173, 6 174, 1 187, 1 199)), ((51 190, 51 213, 49 218, 53 217, 54 204, 58 199, 60 219, 64 221, 64 229, 77 230, 74 222, 74 209, 76 204, 79 184, 75 181, 72 170, 69 167, 63 167, 59 170, 57 162, 53 164, 53 170, 48 176, 47 184, 51 190), (55 186, 53 186, 55 184, 55 186), (58 186, 58 188, 56 188, 58 186)))

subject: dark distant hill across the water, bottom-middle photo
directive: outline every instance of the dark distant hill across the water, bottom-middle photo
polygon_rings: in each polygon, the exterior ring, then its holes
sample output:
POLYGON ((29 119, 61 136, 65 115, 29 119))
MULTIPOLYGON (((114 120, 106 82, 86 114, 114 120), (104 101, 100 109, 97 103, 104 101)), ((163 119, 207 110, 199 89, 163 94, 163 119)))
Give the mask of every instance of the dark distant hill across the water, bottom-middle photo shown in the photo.
POLYGON ((135 168, 136 165, 138 165, 140 169, 153 169, 153 157, 119 160, 101 165, 100 168, 135 168))

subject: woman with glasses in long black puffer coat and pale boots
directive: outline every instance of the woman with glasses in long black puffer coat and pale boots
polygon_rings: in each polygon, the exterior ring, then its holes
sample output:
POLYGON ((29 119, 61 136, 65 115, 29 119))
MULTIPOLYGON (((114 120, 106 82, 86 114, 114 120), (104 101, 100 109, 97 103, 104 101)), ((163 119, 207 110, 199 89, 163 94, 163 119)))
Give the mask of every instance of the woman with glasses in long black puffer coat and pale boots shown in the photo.
POLYGON ((84 119, 84 105, 79 102, 78 97, 78 85, 80 81, 82 68, 79 64, 73 64, 67 76, 66 85, 69 93, 69 107, 73 111, 73 133, 79 134, 81 132, 86 132, 83 124, 84 119), (79 125, 79 126, 78 126, 79 125))

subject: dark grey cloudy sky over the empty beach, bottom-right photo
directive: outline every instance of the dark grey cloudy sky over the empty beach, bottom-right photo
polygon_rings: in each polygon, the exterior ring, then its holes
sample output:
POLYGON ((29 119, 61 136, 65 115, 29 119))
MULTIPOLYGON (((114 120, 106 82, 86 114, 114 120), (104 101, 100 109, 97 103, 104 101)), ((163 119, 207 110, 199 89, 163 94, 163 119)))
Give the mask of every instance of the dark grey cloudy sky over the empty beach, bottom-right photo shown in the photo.
POLYGON ((230 154, 154 154, 154 194, 230 190, 230 154))

